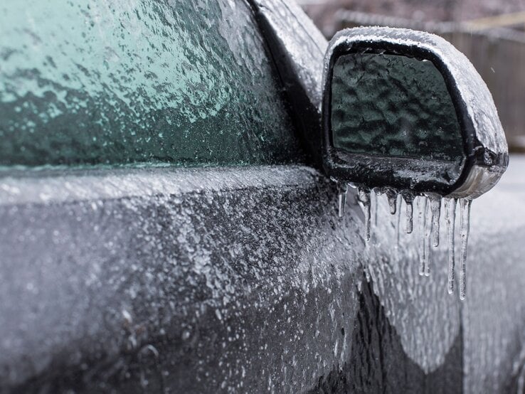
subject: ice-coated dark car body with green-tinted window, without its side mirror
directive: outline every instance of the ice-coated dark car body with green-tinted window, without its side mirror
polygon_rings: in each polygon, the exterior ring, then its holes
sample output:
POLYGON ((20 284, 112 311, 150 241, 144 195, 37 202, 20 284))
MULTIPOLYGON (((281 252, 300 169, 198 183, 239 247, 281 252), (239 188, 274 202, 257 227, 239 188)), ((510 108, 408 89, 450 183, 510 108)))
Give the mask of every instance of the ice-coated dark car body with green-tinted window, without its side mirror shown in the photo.
POLYGON ((0 9, 1 392, 523 391, 523 158, 448 294, 450 215, 421 276, 426 200, 406 234, 327 161, 329 44, 295 3, 0 9))

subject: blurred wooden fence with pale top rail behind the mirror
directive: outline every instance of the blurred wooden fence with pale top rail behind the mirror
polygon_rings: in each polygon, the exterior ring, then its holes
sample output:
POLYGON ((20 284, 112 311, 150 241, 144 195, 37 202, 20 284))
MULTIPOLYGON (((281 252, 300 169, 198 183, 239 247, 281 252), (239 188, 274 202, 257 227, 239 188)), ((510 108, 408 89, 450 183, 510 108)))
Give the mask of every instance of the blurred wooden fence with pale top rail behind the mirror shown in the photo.
POLYGON ((423 23, 340 10, 335 28, 391 26, 430 31, 470 59, 492 92, 513 151, 525 151, 525 33, 504 28, 481 31, 468 23, 423 23))

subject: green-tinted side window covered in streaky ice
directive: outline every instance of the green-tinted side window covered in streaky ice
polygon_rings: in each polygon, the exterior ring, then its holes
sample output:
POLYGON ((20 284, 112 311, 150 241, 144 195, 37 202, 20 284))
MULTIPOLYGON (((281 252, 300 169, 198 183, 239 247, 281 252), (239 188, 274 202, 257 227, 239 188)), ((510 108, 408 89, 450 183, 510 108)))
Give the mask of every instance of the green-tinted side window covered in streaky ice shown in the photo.
POLYGON ((4 168, 297 159, 241 0, 3 0, 0 61, 4 168))

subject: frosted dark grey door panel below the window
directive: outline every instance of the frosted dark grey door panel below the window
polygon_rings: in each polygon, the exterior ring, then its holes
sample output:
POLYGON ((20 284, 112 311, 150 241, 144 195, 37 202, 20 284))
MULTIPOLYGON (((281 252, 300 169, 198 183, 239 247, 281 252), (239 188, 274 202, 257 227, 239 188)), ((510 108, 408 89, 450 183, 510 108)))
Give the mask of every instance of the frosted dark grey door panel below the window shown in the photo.
POLYGON ((402 354, 429 372, 457 338, 457 307, 440 297, 446 275, 420 278, 410 242, 394 256, 390 224, 366 251, 356 196, 339 220, 334 186, 311 169, 77 175, 33 172, 17 178, 18 192, 0 181, 4 386, 309 390, 377 355, 376 339, 361 335, 385 326, 354 319, 363 267, 393 324, 381 346, 399 336, 402 354), (43 179, 55 189, 44 199, 43 179))

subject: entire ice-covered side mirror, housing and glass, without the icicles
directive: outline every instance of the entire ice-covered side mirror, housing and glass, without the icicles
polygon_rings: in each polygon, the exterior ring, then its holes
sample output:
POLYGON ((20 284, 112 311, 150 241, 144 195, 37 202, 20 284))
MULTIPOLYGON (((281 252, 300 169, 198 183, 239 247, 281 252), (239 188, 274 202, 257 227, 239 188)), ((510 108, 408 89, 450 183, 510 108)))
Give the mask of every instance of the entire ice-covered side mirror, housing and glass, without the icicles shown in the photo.
POLYGON ((507 169, 487 85, 438 36, 340 31, 327 49, 323 86, 324 171, 341 184, 472 199, 507 169))

